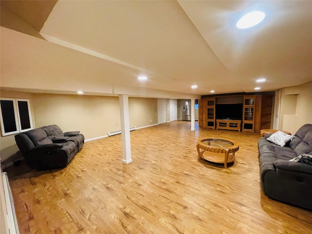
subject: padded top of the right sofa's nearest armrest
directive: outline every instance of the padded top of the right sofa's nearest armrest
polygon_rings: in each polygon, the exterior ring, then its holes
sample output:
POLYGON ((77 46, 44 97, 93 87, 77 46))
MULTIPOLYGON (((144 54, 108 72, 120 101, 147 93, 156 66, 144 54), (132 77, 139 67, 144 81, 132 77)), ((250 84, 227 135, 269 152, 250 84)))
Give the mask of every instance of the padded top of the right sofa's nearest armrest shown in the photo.
POLYGON ((276 171, 290 171, 298 173, 306 173, 312 175, 312 165, 301 162, 292 162, 286 160, 276 160, 273 162, 276 171))

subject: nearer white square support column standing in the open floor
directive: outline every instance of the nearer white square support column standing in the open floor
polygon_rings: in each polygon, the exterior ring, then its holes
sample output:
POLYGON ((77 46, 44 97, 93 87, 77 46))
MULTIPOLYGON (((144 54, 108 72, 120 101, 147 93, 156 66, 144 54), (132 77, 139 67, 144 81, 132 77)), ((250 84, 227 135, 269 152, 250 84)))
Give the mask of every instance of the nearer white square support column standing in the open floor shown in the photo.
POLYGON ((129 121, 129 102, 128 95, 118 95, 120 106, 120 123, 121 123, 121 143, 122 143, 122 162, 130 163, 131 143, 130 143, 130 121, 129 121))

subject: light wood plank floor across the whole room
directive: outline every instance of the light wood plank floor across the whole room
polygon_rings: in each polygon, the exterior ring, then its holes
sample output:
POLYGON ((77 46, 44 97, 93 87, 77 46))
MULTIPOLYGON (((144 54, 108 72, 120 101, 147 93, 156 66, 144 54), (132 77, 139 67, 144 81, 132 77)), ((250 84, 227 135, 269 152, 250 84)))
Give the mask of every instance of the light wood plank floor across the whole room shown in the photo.
POLYGON ((312 233, 311 211, 263 195, 258 133, 190 128, 174 121, 131 132, 127 165, 117 135, 86 142, 61 170, 7 168, 20 233, 312 233), (198 161, 204 137, 237 142, 234 164, 198 161))

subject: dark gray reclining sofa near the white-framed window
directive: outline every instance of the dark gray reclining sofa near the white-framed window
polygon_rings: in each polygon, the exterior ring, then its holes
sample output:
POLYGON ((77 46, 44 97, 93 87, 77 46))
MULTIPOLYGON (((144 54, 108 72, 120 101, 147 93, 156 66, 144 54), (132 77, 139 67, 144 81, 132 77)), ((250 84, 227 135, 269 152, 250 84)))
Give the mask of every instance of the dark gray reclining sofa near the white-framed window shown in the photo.
POLYGON ((15 141, 30 168, 55 169, 67 166, 82 148, 84 136, 79 133, 50 125, 15 135, 15 141))

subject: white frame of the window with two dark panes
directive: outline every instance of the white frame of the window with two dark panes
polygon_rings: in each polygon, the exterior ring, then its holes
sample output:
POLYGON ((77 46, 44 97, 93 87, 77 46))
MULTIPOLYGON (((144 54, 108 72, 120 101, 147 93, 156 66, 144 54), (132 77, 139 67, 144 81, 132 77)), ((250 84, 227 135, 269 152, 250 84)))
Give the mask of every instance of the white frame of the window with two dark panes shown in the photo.
POLYGON ((13 111, 14 111, 14 117, 15 117, 15 126, 16 126, 16 131, 13 132, 5 132, 4 130, 4 122, 3 122, 3 117, 2 117, 2 108, 0 105, 0 120, 1 120, 1 136, 9 136, 13 134, 18 134, 18 133, 23 133, 27 132, 31 129, 33 129, 33 121, 32 121, 32 113, 31 113, 31 108, 30 108, 30 100, 29 99, 22 99, 22 98, 0 98, 0 100, 5 100, 5 101, 12 101, 13 103, 13 111), (19 109, 19 101, 26 101, 27 102, 27 108, 28 108, 28 118, 29 118, 29 123, 30 123, 30 128, 27 129, 22 129, 21 127, 21 120, 20 120, 20 109, 19 109))

